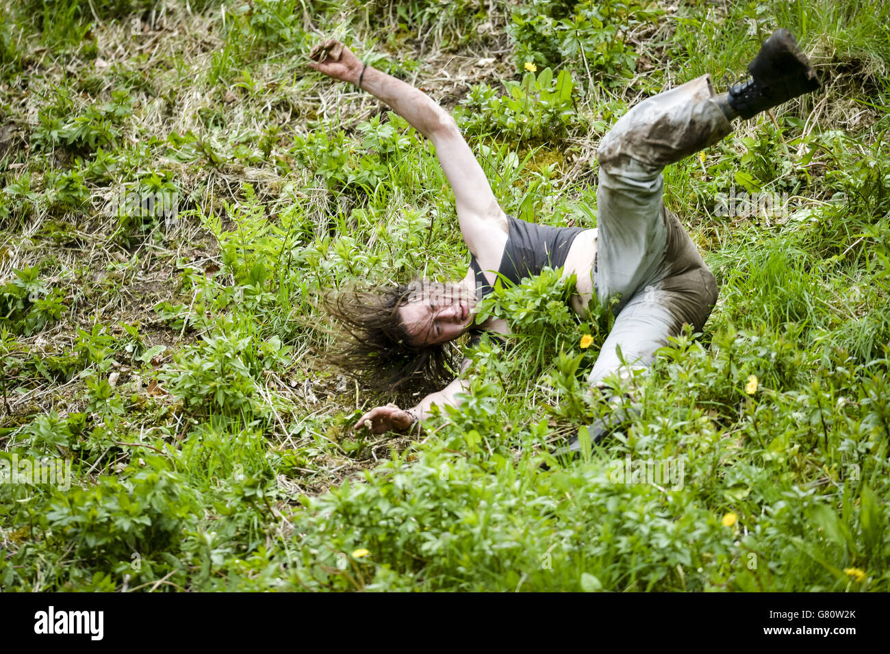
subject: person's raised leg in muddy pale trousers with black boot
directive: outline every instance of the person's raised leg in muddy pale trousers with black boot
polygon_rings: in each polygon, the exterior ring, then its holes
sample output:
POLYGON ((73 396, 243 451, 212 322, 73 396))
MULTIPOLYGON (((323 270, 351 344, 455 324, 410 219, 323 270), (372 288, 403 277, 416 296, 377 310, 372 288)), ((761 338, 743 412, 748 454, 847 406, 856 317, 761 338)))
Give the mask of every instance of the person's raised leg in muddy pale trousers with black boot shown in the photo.
MULTIPOLYGON (((667 293, 659 298, 668 301, 675 318, 671 331, 681 326, 677 319, 700 317, 702 312, 707 318, 716 301, 714 278, 676 216, 661 203, 661 171, 731 133, 733 117, 752 117, 819 87, 787 29, 777 29, 765 40, 748 73, 748 83, 720 96, 707 75, 659 93, 628 111, 600 143, 595 285, 603 303, 620 295, 618 315, 648 286, 667 293), (691 301, 704 304, 691 306, 691 301)), ((689 321, 701 327, 699 320, 689 321)), ((628 329, 621 340, 629 342, 632 336, 628 329)), ((641 341, 647 338, 641 333, 641 341)), ((646 356, 641 348, 635 350, 642 360, 646 356)), ((610 356, 605 349, 604 354, 610 356)))

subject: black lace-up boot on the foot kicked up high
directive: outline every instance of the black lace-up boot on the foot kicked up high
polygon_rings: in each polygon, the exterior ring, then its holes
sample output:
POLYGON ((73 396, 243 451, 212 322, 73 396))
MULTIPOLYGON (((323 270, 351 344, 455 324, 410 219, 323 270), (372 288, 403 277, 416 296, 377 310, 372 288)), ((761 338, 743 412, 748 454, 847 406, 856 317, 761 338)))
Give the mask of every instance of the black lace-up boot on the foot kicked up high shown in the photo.
POLYGON ((810 61, 784 28, 764 41, 754 61, 748 64, 748 73, 752 78, 730 87, 725 96, 732 112, 742 118, 753 117, 819 88, 810 61))

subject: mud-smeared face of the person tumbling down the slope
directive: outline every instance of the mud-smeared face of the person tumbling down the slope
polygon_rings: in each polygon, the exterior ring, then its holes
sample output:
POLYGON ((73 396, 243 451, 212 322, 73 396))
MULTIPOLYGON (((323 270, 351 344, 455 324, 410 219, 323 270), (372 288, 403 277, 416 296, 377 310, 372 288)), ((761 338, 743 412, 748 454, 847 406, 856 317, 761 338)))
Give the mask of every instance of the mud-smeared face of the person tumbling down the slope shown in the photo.
POLYGON ((473 298, 457 284, 431 284, 399 309, 415 347, 453 341, 473 324, 473 298))

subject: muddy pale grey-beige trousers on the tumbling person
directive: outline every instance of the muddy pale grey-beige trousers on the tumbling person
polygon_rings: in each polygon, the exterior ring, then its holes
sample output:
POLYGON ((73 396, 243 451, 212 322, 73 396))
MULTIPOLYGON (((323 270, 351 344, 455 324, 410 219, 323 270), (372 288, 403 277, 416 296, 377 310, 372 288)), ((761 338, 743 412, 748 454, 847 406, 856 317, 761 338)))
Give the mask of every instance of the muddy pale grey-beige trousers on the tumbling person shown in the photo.
POLYGON ((713 98, 707 75, 659 93, 621 117, 597 150, 595 292, 620 300, 591 385, 648 367, 685 323, 700 331, 716 303, 714 275, 661 200, 665 166, 732 132, 713 98))

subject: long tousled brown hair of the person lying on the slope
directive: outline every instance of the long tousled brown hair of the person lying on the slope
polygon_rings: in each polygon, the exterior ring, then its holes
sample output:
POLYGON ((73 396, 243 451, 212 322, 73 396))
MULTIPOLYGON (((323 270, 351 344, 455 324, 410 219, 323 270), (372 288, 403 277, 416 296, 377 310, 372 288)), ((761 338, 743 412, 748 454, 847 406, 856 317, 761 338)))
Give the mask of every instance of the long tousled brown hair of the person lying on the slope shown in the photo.
POLYGON ((325 308, 352 336, 328 360, 375 391, 438 390, 454 378, 453 343, 416 346, 399 309, 427 282, 349 287, 324 296, 325 308))

